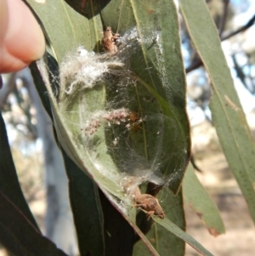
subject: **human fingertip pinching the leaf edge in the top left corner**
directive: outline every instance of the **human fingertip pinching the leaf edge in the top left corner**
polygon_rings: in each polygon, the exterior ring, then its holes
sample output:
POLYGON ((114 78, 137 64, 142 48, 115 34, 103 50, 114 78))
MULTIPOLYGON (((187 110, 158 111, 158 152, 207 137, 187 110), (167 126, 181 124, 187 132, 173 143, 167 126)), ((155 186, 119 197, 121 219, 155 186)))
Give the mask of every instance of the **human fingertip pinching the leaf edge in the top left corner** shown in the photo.
POLYGON ((42 29, 26 4, 0 0, 0 73, 19 71, 44 51, 42 29))

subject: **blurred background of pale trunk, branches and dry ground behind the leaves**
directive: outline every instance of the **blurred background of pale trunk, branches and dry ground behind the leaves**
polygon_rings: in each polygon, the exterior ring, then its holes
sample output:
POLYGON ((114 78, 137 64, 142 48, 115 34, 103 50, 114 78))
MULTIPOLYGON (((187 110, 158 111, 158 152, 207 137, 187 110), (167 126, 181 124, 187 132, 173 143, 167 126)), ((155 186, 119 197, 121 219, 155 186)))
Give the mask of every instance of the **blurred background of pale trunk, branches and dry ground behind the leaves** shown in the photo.
MULTIPOLYGON (((207 5, 218 28, 235 89, 254 137, 255 1, 208 0, 207 5)), ((212 96, 209 77, 192 47, 181 16, 180 20, 192 159, 196 174, 218 205, 226 227, 225 235, 211 236, 196 213, 185 206, 187 232, 215 255, 255 255, 254 225, 213 128, 208 108, 212 96)), ((63 159, 28 68, 3 75, 0 108, 20 185, 38 225, 43 234, 65 253, 78 255, 70 205, 66 199, 68 180, 63 159)), ((8 254, 0 246, 0 256, 3 255, 8 254)), ((187 245, 186 255, 199 253, 187 245)))

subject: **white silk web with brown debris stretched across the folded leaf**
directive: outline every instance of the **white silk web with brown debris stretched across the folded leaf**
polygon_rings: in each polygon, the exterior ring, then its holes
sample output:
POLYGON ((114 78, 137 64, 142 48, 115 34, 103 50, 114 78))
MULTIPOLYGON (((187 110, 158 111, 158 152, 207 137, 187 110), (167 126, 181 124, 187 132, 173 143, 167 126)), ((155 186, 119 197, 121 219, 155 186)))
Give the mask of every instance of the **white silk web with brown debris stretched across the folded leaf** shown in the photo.
MULTIPOLYGON (((182 175, 178 170, 174 177, 163 172, 170 154, 175 154, 171 148, 166 151, 166 145, 174 144, 178 129, 173 118, 161 113, 155 95, 138 82, 130 67, 131 56, 138 55, 139 44, 146 40, 162 51, 159 34, 142 39, 134 27, 121 37, 107 27, 102 39, 104 54, 82 47, 67 54, 59 66, 60 88, 65 111, 78 102, 77 147, 82 145, 94 168, 116 182, 135 207, 149 218, 152 214, 164 218, 156 197, 141 193, 139 185, 169 185, 182 175), (169 127, 171 136, 164 133, 169 127)), ((144 66, 145 70, 150 67, 144 66)), ((122 203, 130 205, 128 200, 122 203)))

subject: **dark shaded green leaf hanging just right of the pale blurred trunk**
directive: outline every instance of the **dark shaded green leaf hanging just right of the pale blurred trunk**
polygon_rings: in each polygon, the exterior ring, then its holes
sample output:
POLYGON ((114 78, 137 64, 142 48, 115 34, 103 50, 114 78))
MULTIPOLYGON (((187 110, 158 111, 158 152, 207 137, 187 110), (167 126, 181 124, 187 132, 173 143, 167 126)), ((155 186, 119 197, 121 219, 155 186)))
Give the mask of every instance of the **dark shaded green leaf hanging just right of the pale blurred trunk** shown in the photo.
POLYGON ((104 255, 103 213, 98 187, 62 151, 81 255, 104 255), (89 209, 89 210, 88 210, 89 209), (86 242, 85 242, 86 241, 86 242))

